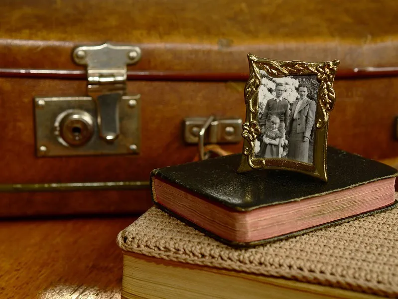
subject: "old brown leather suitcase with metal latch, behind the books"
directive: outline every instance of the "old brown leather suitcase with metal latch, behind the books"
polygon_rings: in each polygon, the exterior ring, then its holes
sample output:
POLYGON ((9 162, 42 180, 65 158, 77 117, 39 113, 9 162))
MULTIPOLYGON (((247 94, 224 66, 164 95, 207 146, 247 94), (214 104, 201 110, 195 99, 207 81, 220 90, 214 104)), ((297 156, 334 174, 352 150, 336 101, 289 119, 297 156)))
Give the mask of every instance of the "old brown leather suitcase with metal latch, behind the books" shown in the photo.
POLYGON ((219 121, 205 141, 240 152, 249 52, 340 59, 329 145, 396 157, 397 8, 387 0, 6 1, 0 216, 141 213, 151 205, 149 172, 194 159, 211 115, 219 121))

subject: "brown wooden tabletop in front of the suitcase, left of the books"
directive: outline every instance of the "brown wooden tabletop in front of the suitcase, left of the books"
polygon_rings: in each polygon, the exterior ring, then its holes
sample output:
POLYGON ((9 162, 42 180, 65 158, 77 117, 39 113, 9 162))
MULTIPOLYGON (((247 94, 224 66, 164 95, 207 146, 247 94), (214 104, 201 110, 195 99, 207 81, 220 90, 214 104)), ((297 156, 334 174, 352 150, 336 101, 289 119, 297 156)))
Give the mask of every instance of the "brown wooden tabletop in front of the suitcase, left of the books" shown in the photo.
POLYGON ((0 298, 120 299, 116 237, 135 219, 0 221, 0 298))

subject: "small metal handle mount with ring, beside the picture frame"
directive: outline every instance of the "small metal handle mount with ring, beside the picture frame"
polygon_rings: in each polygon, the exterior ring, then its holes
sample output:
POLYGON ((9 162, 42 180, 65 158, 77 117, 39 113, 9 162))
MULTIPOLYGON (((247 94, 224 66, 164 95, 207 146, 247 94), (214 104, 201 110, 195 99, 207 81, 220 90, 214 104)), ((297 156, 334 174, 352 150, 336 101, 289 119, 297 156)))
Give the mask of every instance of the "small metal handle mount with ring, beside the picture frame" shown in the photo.
POLYGON ((242 119, 186 118, 184 120, 184 140, 188 144, 197 144, 199 156, 205 158, 205 144, 239 143, 242 141, 242 119))

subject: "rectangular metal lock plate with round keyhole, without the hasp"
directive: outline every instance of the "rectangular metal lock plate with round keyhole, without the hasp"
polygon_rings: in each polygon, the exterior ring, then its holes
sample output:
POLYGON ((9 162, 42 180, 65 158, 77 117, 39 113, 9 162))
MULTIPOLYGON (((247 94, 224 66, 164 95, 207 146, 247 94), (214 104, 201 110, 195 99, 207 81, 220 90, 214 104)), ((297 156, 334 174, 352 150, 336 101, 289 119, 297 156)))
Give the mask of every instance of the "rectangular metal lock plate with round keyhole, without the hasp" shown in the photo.
POLYGON ((112 143, 99 136, 96 106, 91 97, 35 98, 38 156, 138 153, 139 95, 122 96, 118 106, 119 137, 112 143))

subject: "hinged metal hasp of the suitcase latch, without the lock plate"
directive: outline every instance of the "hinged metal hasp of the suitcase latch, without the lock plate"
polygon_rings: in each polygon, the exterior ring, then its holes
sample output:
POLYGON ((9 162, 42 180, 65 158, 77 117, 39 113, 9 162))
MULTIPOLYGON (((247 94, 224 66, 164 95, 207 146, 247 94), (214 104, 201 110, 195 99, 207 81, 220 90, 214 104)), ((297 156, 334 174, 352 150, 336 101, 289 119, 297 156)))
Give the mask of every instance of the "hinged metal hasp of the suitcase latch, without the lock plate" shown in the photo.
POLYGON ((107 142, 119 137, 119 103, 126 95, 127 65, 141 58, 135 46, 80 46, 72 55, 77 64, 87 65, 87 93, 96 104, 99 135, 107 142))

